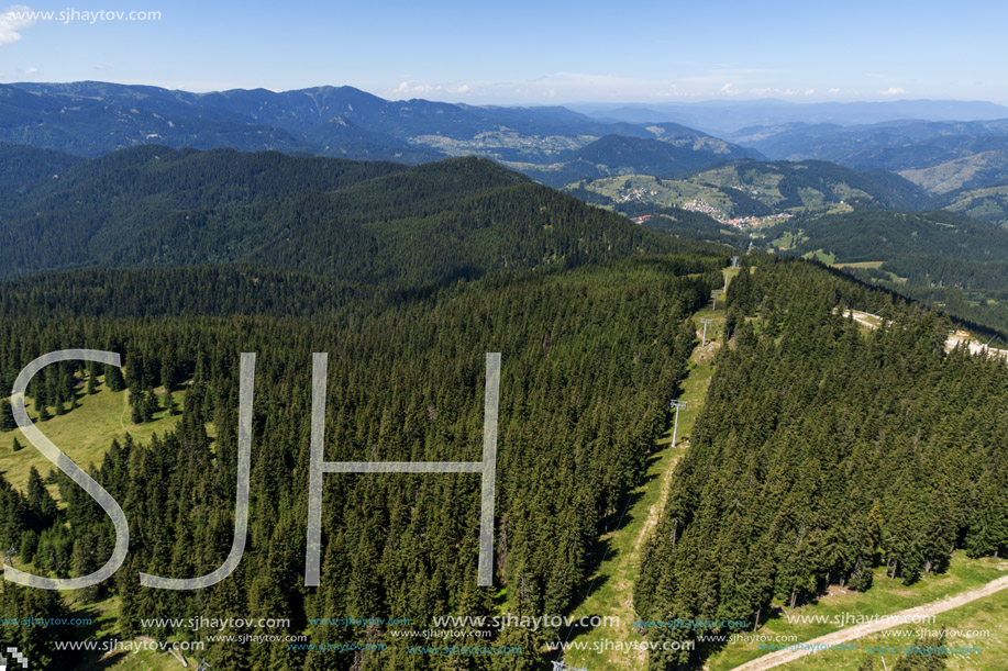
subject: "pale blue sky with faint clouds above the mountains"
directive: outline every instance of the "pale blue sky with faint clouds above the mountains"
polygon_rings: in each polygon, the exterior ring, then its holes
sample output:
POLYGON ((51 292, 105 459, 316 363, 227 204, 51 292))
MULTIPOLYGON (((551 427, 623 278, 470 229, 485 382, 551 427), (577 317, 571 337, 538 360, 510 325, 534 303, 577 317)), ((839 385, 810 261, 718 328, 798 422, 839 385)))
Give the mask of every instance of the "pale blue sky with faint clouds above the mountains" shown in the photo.
POLYGON ((351 85, 385 98, 524 104, 1008 103, 1008 3, 996 1, 23 1, 0 0, 0 82, 351 85), (25 9, 160 19, 31 22, 12 13, 25 9))

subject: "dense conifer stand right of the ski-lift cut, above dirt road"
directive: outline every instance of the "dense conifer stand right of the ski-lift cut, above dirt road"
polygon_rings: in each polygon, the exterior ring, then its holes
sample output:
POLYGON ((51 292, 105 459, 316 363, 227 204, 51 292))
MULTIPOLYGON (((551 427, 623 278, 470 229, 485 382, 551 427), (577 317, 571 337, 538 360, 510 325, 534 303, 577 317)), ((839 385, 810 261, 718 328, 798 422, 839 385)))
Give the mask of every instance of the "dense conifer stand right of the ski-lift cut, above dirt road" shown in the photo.
POLYGON ((728 300, 732 342, 635 588, 643 619, 754 623, 868 590, 875 566, 909 584, 953 548, 1008 549, 1004 362, 946 354, 948 322, 796 260, 761 259, 728 300), (863 333, 845 307, 891 323, 863 333))

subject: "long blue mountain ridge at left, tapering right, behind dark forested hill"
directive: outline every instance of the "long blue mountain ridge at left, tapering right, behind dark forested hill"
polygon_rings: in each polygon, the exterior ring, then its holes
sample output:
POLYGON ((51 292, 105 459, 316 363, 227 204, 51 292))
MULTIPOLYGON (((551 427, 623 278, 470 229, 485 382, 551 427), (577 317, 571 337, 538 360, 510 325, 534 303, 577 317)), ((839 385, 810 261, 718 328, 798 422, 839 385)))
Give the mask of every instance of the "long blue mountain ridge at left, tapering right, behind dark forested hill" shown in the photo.
POLYGON ((98 81, 0 85, 0 142, 87 157, 142 144, 408 165, 476 155, 553 186, 762 158, 680 124, 610 123, 562 107, 390 101, 353 87, 192 93, 98 81), (601 144, 588 149, 594 143, 601 144))

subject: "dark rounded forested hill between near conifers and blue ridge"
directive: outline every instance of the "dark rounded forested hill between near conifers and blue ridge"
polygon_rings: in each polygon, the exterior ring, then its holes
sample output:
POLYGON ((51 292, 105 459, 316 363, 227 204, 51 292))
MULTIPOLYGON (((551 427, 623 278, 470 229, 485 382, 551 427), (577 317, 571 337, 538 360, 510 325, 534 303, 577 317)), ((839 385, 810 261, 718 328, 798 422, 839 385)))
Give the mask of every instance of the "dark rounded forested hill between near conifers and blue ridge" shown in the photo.
POLYGON ((409 168, 157 146, 24 189, 0 235, 0 277, 254 262, 390 287, 678 245, 484 159, 409 168))

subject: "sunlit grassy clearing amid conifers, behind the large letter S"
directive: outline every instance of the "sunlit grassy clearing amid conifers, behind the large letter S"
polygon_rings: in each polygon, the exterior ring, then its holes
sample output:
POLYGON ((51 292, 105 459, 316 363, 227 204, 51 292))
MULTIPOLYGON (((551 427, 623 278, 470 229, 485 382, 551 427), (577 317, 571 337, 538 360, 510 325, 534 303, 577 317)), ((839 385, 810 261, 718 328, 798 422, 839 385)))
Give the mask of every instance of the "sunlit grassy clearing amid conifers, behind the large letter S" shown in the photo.
MULTIPOLYGON (((179 407, 185 400, 185 391, 173 392, 179 407)), ((179 416, 167 416, 159 412, 154 415, 154 422, 148 424, 133 424, 130 420, 129 392, 111 392, 99 387, 97 394, 78 395, 80 407, 48 422, 37 422, 37 412, 31 401, 26 403, 29 415, 36 421, 38 429, 62 449, 80 468, 87 470, 90 465, 101 463, 112 439, 123 440, 129 433, 137 443, 146 443, 155 433, 164 434, 178 424, 179 416)), ((20 490, 27 484, 31 467, 35 467, 43 477, 55 468, 53 463, 42 456, 24 437, 21 429, 0 434, 0 473, 8 482, 20 490), (14 452, 11 449, 12 439, 16 438, 23 449, 14 452)), ((51 488, 53 495, 57 495, 56 488, 51 488)))

